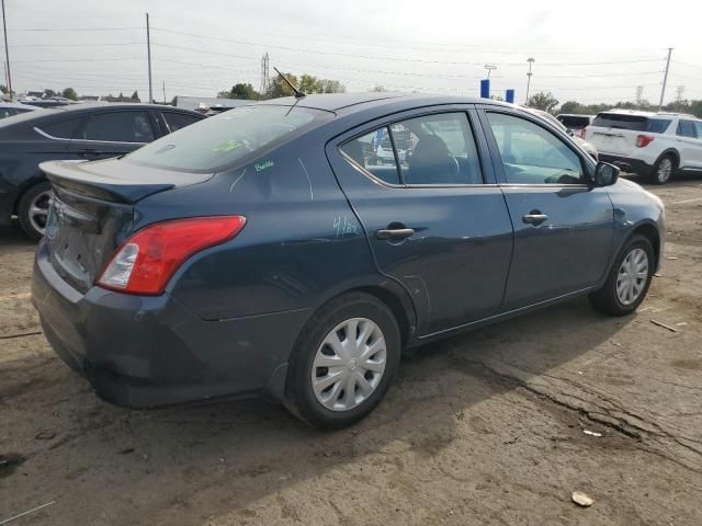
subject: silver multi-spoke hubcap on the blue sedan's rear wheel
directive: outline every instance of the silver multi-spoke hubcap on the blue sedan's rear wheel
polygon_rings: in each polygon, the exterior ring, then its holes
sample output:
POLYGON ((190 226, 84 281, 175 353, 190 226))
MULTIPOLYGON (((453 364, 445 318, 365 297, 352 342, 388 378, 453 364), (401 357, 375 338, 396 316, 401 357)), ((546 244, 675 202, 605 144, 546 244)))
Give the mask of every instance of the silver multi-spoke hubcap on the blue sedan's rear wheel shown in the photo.
POLYGON ((377 324, 352 318, 333 328, 321 342, 312 366, 317 401, 331 411, 349 411, 380 385, 387 351, 377 324))

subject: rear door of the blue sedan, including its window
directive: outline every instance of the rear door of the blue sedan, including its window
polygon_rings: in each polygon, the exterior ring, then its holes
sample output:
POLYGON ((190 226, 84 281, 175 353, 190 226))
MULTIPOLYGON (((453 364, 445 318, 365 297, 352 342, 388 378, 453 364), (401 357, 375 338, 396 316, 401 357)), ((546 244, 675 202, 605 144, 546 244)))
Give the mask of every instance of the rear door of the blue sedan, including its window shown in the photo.
POLYGON ((486 318, 502 301, 512 227, 469 113, 409 112, 327 146, 380 272, 415 300, 420 335, 486 318))

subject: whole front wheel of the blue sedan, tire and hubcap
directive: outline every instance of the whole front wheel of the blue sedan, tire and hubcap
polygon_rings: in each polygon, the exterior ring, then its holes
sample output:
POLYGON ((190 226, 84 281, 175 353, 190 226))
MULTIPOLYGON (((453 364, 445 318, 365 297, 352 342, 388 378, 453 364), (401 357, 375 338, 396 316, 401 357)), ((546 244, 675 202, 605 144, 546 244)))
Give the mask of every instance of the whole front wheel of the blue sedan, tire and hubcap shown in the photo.
POLYGON ((626 316, 646 297, 655 268, 650 241, 634 235, 614 261, 602 288, 590 294, 592 306, 610 316, 626 316))

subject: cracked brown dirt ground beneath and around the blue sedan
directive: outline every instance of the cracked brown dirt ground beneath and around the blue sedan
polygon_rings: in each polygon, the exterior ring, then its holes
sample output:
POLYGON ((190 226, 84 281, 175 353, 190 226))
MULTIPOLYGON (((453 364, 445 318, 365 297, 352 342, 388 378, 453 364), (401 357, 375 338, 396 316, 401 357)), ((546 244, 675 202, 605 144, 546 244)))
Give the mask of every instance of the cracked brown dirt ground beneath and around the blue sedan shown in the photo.
POLYGON ((55 501, 12 526, 702 524, 702 178, 654 191, 638 313, 581 299, 427 346, 331 434, 262 401, 100 401, 41 333, 34 247, 0 230, 0 523, 55 501))

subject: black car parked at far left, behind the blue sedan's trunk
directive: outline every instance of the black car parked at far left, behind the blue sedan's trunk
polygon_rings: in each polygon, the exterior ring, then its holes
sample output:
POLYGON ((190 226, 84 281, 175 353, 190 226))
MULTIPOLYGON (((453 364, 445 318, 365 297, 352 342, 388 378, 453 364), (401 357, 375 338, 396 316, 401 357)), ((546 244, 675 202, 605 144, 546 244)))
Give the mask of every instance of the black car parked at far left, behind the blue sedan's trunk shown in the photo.
POLYGON ((75 104, 0 121, 0 225, 18 216, 34 239, 44 233, 50 184, 38 163, 95 160, 128 153, 205 118, 147 104, 75 104))

